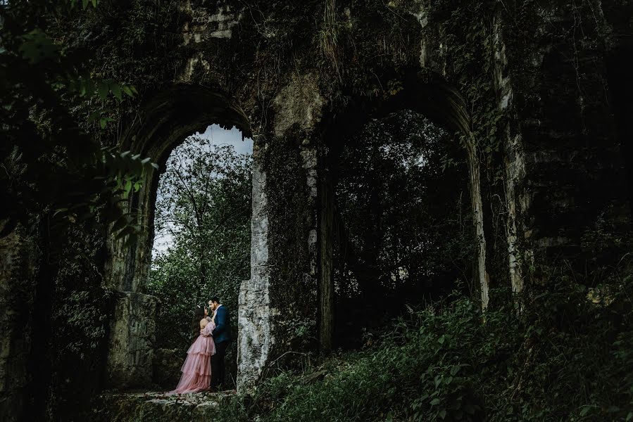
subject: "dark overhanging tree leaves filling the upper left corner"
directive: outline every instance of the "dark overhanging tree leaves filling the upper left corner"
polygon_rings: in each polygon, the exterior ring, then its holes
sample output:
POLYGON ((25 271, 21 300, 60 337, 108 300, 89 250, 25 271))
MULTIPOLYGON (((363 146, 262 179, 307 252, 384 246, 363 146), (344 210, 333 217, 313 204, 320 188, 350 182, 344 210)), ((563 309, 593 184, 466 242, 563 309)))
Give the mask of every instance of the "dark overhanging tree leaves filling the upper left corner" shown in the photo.
MULTIPOLYGON (((4 233, 19 222, 27 224, 33 213, 48 215, 58 231, 99 217, 127 228, 121 236, 134 232, 120 202, 129 191, 127 184, 136 183, 151 163, 102 148, 73 110, 94 98, 103 104, 110 94, 122 101, 122 92, 134 96, 136 89, 93 77, 92 55, 86 49, 73 49, 49 35, 53 29, 47 18, 86 13, 75 4, 12 1, 0 6, 0 162, 5 170, 0 202, 7 205, 0 219, 8 221, 4 233)), ((87 123, 96 120, 106 127, 111 121, 106 112, 93 107, 87 123)))

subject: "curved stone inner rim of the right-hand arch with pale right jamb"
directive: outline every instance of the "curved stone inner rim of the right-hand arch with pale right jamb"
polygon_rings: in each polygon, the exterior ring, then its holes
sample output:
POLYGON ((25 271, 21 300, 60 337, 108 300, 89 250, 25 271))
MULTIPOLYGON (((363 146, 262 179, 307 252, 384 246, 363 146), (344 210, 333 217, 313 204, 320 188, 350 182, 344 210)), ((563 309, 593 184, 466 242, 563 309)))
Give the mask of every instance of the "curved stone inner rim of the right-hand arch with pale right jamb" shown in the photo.
MULTIPOLYGON (((463 96, 444 77, 432 72, 413 69, 402 79, 402 89, 389 98, 356 98, 342 113, 332 113, 323 132, 324 145, 344 142, 346 137, 358 132, 372 118, 380 118, 398 110, 413 110, 425 115, 440 126, 463 135, 468 159, 470 196, 475 215, 475 231, 480 239, 477 253, 477 279, 481 288, 481 305, 488 305, 489 276, 486 269, 486 238, 481 193, 480 166, 477 146, 472 135, 472 122, 463 96)), ((319 338, 323 350, 332 347, 333 333, 333 283, 332 283, 332 235, 333 211, 332 188, 327 180, 320 189, 320 272, 319 283, 319 338)))

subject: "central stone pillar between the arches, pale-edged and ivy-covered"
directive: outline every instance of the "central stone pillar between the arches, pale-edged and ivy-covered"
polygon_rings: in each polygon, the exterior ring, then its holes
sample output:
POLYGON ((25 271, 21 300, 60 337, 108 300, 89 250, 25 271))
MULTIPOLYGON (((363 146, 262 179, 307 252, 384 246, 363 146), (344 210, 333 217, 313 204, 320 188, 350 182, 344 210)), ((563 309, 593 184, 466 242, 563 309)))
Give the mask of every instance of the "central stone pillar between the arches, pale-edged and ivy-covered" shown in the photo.
POLYGON ((253 146, 251 279, 239 293, 238 388, 318 345, 318 143, 315 75, 275 96, 272 134, 253 146))

